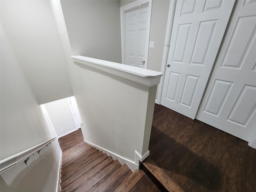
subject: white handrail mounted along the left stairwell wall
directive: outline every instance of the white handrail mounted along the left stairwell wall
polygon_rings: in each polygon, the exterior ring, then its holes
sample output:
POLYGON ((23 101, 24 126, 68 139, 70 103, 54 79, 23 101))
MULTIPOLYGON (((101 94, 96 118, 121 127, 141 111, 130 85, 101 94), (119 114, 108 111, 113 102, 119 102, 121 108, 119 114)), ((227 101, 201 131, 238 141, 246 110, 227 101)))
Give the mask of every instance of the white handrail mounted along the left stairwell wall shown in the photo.
POLYGON ((10 168, 13 168, 19 162, 28 158, 29 156, 31 156, 33 153, 37 152, 38 150, 42 149, 44 146, 46 146, 47 144, 52 142, 54 139, 56 139, 56 137, 54 137, 52 139, 49 139, 45 142, 42 142, 41 144, 38 144, 38 145, 36 145, 32 148, 29 148, 27 150, 19 152, 19 153, 13 155, 13 156, 10 156, 8 158, 5 158, 5 159, 1 160, 0 161, 0 174, 9 170, 10 168))

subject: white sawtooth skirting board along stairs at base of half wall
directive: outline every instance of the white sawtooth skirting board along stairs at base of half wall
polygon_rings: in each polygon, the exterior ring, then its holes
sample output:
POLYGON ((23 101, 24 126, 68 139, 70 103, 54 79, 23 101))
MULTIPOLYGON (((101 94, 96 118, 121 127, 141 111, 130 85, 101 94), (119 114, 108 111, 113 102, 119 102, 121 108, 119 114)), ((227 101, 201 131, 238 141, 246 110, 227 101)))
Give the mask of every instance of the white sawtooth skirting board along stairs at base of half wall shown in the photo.
POLYGON ((95 145, 95 144, 93 144, 93 143, 91 143, 91 142, 89 142, 89 141, 84 140, 84 142, 86 142, 86 143, 89 144, 90 146, 93 146, 93 147, 95 147, 96 149, 98 149, 98 150, 100 150, 100 151, 106 153, 108 156, 112 156, 114 160, 118 159, 118 161, 119 161, 122 165, 124 165, 124 164, 126 163, 126 164, 129 166, 129 168, 130 168, 133 172, 136 171, 136 170, 139 168, 139 165, 137 165, 135 162, 133 162, 133 161, 131 161, 131 160, 128 160, 128 159, 126 159, 126 158, 124 158, 124 157, 122 157, 122 156, 120 156, 120 155, 118 155, 118 154, 115 154, 115 153, 113 153, 113 152, 111 152, 111 151, 109 151, 109 150, 107 150, 107 149, 104 149, 104 148, 102 148, 102 147, 100 147, 100 146, 98 146, 98 145, 95 145))

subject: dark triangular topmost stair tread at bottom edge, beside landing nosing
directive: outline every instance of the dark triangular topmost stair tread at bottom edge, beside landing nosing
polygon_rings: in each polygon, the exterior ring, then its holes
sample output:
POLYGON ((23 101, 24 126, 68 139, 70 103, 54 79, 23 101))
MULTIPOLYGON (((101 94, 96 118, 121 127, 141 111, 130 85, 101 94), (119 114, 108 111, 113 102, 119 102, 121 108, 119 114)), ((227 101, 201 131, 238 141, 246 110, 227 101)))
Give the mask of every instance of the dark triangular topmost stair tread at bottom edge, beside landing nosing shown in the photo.
POLYGON ((129 192, 160 192, 148 176, 144 175, 129 192))

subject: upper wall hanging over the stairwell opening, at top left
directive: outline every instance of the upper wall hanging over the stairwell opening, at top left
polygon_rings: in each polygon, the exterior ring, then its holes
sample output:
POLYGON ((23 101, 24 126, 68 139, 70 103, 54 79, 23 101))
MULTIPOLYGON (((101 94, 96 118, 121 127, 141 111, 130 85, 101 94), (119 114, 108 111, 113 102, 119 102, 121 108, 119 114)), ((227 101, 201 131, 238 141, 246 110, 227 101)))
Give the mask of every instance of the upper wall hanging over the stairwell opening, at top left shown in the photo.
POLYGON ((1 22, 39 104, 73 96, 50 2, 1 0, 1 22))

